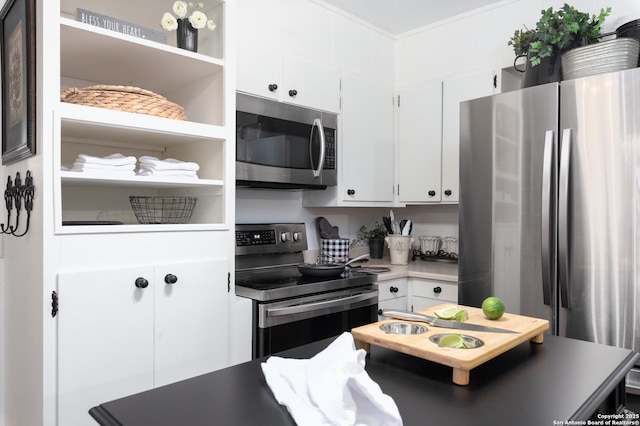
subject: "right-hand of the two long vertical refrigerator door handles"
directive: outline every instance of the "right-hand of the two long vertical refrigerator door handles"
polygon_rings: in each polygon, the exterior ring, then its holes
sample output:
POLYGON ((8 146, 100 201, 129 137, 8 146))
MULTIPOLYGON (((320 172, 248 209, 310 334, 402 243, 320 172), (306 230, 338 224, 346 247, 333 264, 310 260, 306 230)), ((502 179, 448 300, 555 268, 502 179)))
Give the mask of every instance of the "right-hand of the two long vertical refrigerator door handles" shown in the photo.
POLYGON ((560 302, 571 309, 569 286, 569 169, 571 166, 571 129, 562 131, 558 197, 558 266, 560 302))

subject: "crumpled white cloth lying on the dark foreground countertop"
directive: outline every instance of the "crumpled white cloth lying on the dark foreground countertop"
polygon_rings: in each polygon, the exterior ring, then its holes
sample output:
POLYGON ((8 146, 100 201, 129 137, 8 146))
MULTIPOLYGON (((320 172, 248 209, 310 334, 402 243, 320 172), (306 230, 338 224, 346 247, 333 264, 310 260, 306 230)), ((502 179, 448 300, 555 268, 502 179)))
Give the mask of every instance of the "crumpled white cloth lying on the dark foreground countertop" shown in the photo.
POLYGON ((262 372, 300 426, 401 426, 395 401, 364 370, 365 356, 345 332, 311 359, 269 357, 262 372))

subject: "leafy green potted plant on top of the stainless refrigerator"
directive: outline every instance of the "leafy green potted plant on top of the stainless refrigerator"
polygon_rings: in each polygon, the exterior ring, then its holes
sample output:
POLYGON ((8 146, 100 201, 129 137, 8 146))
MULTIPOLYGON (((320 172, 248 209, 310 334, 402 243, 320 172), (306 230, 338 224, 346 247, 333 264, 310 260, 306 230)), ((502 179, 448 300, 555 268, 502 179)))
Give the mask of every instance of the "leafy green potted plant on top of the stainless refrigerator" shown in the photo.
POLYGON ((550 7, 541 13, 535 28, 516 30, 507 43, 513 48, 516 61, 527 57, 525 70, 519 70, 525 73, 523 87, 560 81, 562 53, 597 43, 602 23, 611 13, 611 8, 601 9, 598 15, 589 15, 565 3, 560 9, 550 7))

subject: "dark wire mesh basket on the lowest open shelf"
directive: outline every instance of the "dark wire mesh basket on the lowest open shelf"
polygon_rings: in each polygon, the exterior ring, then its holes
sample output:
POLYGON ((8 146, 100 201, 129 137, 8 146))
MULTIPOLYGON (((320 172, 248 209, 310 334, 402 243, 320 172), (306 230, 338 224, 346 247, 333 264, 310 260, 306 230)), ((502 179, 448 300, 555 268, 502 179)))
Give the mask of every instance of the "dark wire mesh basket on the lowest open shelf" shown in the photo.
POLYGON ((136 219, 144 224, 189 223, 197 201, 196 197, 129 196, 136 219))

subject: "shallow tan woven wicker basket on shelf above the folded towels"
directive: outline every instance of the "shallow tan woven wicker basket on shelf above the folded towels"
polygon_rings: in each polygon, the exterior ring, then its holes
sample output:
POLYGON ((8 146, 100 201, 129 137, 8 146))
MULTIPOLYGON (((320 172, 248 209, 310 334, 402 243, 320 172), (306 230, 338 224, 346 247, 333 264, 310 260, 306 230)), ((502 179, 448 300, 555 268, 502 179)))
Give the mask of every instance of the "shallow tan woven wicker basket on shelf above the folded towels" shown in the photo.
POLYGON ((71 87, 60 94, 62 102, 187 120, 184 108, 157 93, 132 86, 71 87))

